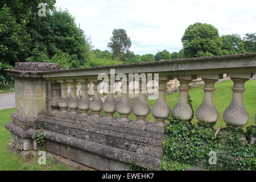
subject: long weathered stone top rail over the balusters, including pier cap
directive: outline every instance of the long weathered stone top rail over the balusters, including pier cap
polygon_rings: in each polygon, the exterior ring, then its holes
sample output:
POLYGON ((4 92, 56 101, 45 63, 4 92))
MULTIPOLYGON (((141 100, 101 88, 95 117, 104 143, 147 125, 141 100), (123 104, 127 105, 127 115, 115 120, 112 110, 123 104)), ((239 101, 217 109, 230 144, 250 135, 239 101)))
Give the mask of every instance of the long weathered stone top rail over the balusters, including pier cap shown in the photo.
POLYGON ((110 69, 115 69, 115 73, 161 73, 168 76, 253 73, 256 72, 256 52, 62 70, 57 64, 47 66, 42 63, 35 63, 34 70, 22 68, 26 68, 26 63, 16 63, 15 69, 6 71, 12 76, 45 78, 97 76, 99 73, 110 75, 110 69), (36 64, 43 68, 37 68, 36 64), (46 67, 49 67, 48 71, 46 67))

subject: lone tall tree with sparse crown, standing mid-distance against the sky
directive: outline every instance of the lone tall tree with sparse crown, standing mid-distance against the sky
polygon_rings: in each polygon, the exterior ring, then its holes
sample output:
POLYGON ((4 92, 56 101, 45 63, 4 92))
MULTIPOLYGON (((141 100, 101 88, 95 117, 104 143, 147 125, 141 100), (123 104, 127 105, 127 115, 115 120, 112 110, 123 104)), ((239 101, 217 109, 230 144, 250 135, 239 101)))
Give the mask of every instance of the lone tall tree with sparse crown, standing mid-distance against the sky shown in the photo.
POLYGON ((122 28, 114 29, 108 47, 111 49, 113 55, 117 56, 119 61, 122 61, 123 55, 125 55, 131 47, 131 40, 127 36, 126 31, 122 28))

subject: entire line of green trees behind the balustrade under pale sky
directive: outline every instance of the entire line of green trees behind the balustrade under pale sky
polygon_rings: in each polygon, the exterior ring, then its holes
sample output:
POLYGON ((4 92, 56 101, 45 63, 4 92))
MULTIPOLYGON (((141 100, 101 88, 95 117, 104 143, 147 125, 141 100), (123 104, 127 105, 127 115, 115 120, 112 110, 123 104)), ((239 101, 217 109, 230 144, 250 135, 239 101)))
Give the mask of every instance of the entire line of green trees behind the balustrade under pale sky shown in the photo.
POLYGON ((60 63, 67 69, 256 52, 255 33, 244 38, 237 34, 220 36, 217 28, 203 23, 185 30, 179 52, 164 49, 155 55, 135 55, 123 29, 115 29, 109 51, 101 51, 93 49, 89 36, 67 10, 56 9, 55 0, 45 0, 46 16, 39 16, 41 2, 0 0, 0 79, 5 78, 3 69, 13 67, 17 61, 60 63))

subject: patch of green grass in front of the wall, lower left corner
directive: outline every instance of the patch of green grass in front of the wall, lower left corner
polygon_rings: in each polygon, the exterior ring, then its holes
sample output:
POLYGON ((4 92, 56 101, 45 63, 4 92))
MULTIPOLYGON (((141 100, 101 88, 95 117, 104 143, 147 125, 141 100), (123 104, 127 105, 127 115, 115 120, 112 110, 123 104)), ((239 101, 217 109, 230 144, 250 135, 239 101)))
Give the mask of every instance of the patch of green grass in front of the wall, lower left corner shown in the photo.
POLYGON ((7 150, 10 142, 10 131, 5 129, 5 123, 9 122, 9 116, 14 112, 13 109, 0 110, 0 170, 18 171, 63 171, 71 170, 61 164, 54 164, 51 159, 46 159, 46 165, 39 165, 38 158, 31 158, 29 161, 7 150))

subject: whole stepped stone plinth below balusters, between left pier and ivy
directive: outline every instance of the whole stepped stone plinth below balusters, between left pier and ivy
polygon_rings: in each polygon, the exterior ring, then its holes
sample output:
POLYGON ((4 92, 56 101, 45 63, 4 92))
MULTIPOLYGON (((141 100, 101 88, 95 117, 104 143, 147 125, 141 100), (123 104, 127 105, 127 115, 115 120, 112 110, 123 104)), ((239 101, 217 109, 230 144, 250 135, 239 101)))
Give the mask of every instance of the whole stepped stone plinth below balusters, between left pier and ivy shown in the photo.
POLYGON ((87 119, 45 117, 42 127, 47 151, 100 170, 129 170, 127 164, 133 162, 143 168, 158 168, 166 138, 87 119))

